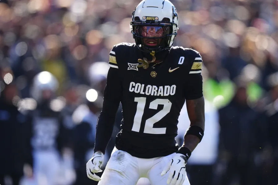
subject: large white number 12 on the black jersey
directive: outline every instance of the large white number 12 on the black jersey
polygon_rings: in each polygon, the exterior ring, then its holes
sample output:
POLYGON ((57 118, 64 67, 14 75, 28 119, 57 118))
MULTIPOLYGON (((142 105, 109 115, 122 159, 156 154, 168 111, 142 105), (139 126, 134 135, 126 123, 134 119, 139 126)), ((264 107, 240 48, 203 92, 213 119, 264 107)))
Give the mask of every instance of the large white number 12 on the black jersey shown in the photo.
MULTIPOLYGON (((139 132, 146 105, 146 97, 135 97, 134 101, 137 102, 137 110, 134 116, 132 131, 139 132)), ((163 109, 146 120, 144 128, 144 133, 146 134, 166 134, 166 127, 154 128, 153 126, 154 123, 161 120, 170 112, 172 103, 168 99, 157 98, 150 102, 149 109, 157 109, 158 105, 163 105, 163 109)))

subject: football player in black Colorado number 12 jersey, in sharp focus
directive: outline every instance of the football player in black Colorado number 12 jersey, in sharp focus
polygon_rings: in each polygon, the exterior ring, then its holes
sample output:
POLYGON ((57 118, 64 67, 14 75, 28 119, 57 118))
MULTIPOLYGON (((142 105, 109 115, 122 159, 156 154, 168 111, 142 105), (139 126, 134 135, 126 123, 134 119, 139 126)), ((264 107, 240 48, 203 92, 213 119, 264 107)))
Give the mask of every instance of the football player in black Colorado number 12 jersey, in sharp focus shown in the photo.
POLYGON ((199 52, 173 47, 178 14, 168 0, 143 0, 130 23, 135 43, 110 51, 103 109, 87 176, 99 185, 135 185, 145 177, 152 185, 190 184, 185 165, 204 135, 204 98, 199 52), (121 131, 107 166, 103 154, 115 114, 122 103, 121 131), (175 141, 180 110, 186 102, 190 127, 179 147, 175 141))

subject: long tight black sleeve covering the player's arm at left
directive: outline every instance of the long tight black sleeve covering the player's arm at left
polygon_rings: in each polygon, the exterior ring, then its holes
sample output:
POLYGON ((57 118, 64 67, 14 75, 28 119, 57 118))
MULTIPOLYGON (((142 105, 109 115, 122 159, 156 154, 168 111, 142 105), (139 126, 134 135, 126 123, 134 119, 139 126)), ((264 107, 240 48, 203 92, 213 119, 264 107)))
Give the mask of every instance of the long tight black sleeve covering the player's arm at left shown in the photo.
POLYGON ((104 89, 103 107, 96 125, 94 152, 105 153, 111 138, 116 112, 120 104, 122 84, 119 69, 110 68, 107 74, 107 84, 104 89))

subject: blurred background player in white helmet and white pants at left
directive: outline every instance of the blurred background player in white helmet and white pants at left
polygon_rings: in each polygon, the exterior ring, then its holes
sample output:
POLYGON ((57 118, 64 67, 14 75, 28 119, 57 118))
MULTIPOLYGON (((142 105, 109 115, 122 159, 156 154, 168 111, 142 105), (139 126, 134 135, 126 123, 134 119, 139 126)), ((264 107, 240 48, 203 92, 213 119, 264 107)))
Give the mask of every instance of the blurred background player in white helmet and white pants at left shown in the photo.
POLYGON ((34 109, 28 113, 29 128, 32 128, 32 152, 36 184, 57 184, 60 179, 60 158, 68 134, 63 124, 63 104, 56 99, 57 78, 43 71, 34 76, 31 95, 34 109), (36 100, 36 101, 35 101, 36 100))

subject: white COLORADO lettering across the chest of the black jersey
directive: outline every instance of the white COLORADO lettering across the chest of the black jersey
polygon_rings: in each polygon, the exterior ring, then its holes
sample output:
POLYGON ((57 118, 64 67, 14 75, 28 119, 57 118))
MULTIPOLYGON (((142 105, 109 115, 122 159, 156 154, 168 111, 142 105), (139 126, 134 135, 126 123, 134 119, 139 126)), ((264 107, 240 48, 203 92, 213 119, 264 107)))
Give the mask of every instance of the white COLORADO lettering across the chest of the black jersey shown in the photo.
POLYGON ((169 96, 174 95, 176 92, 176 85, 165 85, 159 86, 156 85, 145 85, 135 82, 130 82, 129 92, 135 92, 151 96, 169 96))

